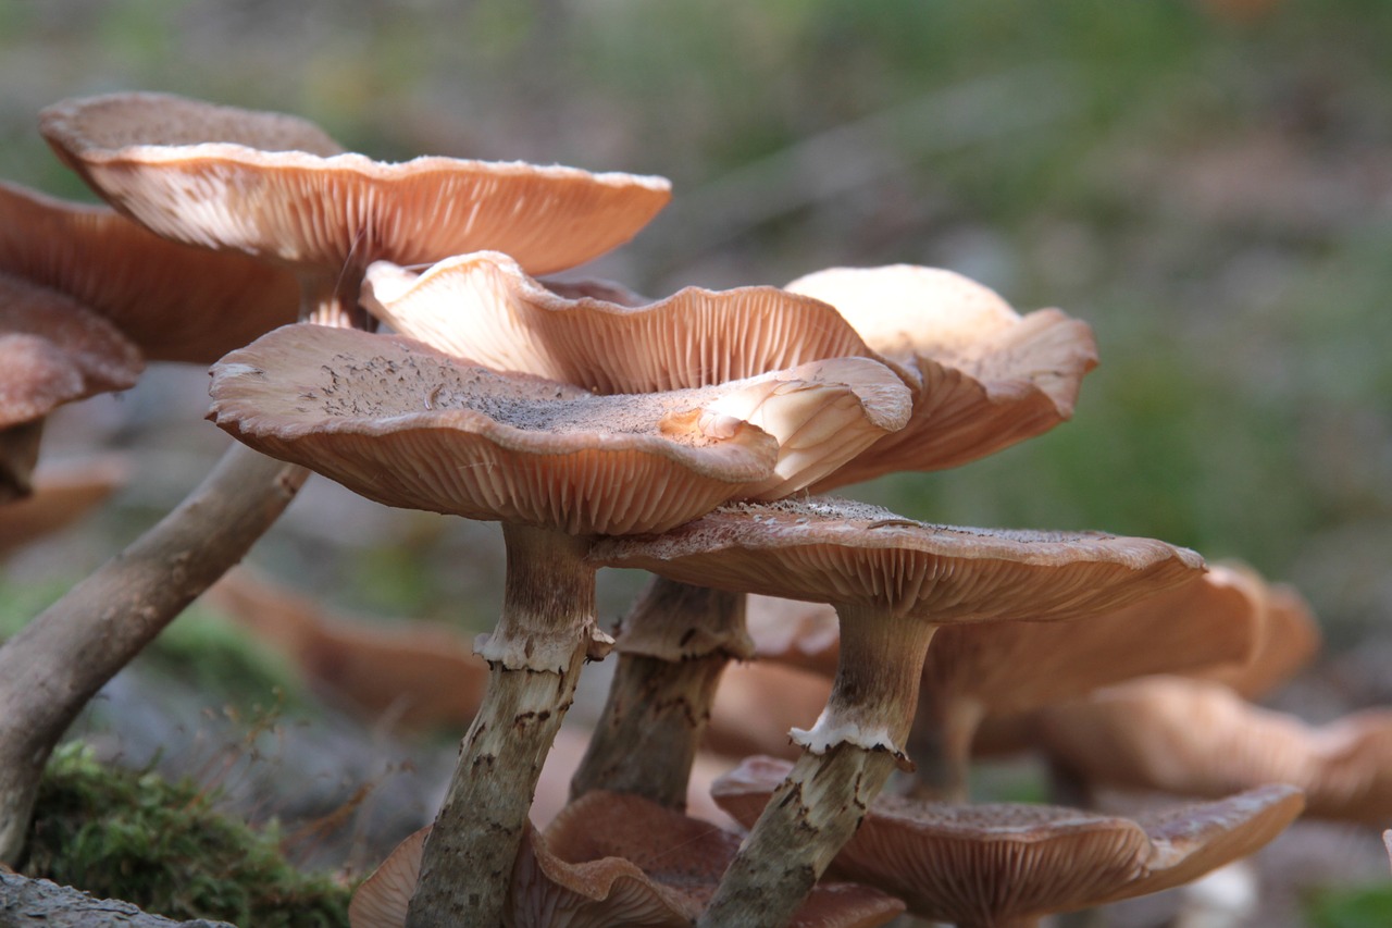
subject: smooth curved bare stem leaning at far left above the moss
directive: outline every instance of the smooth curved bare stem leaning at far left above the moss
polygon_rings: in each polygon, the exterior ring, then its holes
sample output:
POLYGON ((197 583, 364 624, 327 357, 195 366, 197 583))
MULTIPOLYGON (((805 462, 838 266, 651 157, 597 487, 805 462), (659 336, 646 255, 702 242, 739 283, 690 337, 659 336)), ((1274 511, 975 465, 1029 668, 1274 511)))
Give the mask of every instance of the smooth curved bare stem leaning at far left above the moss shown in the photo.
POLYGON ((43 765, 82 706, 242 559, 308 474, 232 444, 168 516, 0 647, 0 861, 18 858, 43 765))

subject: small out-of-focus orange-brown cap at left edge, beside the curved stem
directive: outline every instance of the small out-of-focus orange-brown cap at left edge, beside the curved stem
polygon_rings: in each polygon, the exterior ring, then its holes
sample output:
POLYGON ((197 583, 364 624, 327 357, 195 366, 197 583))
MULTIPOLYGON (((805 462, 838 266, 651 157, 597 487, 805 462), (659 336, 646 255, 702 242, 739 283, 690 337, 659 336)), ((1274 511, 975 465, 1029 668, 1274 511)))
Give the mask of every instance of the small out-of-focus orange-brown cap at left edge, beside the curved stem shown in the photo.
POLYGON ((45 464, 33 495, 0 506, 0 559, 61 531, 125 484, 129 465, 117 454, 45 464))

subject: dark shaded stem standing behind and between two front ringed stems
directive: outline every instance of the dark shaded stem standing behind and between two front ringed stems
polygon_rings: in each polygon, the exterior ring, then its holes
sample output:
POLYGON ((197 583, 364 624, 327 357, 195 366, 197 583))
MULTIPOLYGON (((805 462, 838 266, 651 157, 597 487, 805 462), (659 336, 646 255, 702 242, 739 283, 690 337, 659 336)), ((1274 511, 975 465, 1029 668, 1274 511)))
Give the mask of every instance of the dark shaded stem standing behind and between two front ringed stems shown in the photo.
POLYGON ((685 811, 692 764, 731 658, 753 648, 745 595, 657 577, 624 620, 608 701, 571 798, 633 793, 685 811))

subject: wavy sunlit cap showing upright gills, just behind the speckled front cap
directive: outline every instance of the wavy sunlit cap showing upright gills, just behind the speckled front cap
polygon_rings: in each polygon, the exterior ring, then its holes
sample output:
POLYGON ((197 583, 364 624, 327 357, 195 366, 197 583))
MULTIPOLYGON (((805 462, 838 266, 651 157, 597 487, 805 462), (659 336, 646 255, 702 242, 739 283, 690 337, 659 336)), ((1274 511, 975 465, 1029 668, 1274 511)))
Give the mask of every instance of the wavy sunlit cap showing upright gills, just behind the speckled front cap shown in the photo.
MULTIPOLYGON (((777 287, 689 287, 639 307, 571 300, 497 252, 450 258, 422 274, 377 262, 363 305, 441 351, 596 393, 679 390, 823 358, 876 358, 835 309, 777 287)), ((916 373, 898 373, 917 385, 916 373)))

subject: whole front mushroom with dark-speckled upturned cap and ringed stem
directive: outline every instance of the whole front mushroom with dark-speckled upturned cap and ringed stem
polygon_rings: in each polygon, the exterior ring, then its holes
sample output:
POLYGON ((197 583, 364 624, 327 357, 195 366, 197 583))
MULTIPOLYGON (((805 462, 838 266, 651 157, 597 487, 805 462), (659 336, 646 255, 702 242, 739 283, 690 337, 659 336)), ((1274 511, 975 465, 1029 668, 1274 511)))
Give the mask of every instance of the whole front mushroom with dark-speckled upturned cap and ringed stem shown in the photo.
POLYGON ((498 918, 540 761, 580 663, 607 651, 585 560, 593 536, 663 531, 732 496, 805 485, 844 460, 803 454, 809 424, 849 456, 883 433, 885 405, 908 414, 908 390, 866 358, 594 396, 405 337, 308 325, 230 354, 212 393, 217 425, 258 450, 390 506, 504 524, 503 619, 479 645, 490 683, 425 850, 419 924, 498 918), (480 886, 479 874, 497 876, 480 886))

